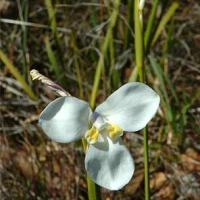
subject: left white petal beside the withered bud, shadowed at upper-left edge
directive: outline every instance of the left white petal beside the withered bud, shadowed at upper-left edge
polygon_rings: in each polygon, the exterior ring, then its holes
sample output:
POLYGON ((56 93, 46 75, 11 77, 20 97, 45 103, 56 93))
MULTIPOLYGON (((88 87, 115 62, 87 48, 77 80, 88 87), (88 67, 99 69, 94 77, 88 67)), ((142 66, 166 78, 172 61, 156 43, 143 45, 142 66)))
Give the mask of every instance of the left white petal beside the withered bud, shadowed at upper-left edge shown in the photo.
POLYGON ((90 114, 87 102, 75 97, 60 97, 43 110, 39 123, 52 140, 68 143, 84 136, 90 114))

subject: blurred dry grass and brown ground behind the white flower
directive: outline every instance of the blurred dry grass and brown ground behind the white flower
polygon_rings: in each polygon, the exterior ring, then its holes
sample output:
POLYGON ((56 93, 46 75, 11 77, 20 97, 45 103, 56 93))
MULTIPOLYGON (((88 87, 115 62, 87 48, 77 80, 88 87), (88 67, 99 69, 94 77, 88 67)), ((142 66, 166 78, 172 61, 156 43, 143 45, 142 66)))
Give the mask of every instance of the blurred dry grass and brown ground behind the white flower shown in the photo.
MULTIPOLYGON (((134 1, 0 0, 0 199, 87 199, 81 145, 58 144, 38 126, 57 95, 31 81, 35 68, 73 96, 96 104, 137 80, 134 1)), ((151 199, 200 196, 200 2, 147 0, 146 82, 161 96, 149 123, 151 199)), ((102 199, 144 199, 143 137, 126 134, 136 172, 102 199)))

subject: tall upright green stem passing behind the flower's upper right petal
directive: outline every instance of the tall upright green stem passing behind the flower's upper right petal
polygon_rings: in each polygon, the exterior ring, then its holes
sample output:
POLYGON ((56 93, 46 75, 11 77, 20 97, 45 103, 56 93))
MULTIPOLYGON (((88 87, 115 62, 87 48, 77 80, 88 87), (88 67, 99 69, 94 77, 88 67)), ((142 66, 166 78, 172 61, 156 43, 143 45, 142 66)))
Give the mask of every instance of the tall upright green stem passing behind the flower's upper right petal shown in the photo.
MULTIPOLYGON (((139 75, 139 81, 144 82, 144 37, 143 37, 143 21, 142 8, 139 7, 139 0, 135 0, 134 4, 134 22, 135 22, 135 57, 136 67, 139 75)), ((149 200, 149 166, 148 166, 148 133, 144 128, 144 189, 145 200, 149 200)))

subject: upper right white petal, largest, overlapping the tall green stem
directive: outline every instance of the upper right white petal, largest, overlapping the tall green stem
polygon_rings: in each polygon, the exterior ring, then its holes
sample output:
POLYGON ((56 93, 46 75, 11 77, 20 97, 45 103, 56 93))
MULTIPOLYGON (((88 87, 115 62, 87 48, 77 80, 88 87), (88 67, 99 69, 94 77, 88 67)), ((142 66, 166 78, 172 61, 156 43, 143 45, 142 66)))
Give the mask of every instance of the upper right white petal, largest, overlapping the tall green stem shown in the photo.
POLYGON ((160 97, 143 83, 127 83, 111 94, 95 112, 125 131, 138 131, 156 113, 160 97))

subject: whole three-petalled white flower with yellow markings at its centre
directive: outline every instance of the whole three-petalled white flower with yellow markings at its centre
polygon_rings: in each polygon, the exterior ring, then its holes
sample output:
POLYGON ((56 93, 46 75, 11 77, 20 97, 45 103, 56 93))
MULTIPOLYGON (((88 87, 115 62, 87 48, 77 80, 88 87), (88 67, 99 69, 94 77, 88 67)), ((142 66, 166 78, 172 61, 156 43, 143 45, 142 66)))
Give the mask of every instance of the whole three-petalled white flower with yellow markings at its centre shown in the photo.
POLYGON ((98 185, 118 190, 132 178, 134 162, 120 136, 141 130, 159 106, 159 96, 143 83, 127 83, 92 113, 87 102, 60 97, 40 115, 40 125, 52 140, 73 142, 85 137, 88 175, 98 185))

